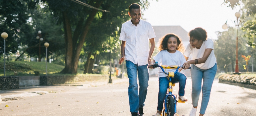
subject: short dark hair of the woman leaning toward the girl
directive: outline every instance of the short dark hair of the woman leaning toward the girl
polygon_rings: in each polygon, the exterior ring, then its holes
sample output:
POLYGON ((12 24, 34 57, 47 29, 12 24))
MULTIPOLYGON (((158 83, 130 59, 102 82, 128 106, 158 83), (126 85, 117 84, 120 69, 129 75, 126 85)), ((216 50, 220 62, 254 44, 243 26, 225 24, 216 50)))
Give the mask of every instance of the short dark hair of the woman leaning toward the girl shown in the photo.
POLYGON ((195 28, 189 32, 189 36, 197 40, 207 40, 207 32, 202 28, 195 28))

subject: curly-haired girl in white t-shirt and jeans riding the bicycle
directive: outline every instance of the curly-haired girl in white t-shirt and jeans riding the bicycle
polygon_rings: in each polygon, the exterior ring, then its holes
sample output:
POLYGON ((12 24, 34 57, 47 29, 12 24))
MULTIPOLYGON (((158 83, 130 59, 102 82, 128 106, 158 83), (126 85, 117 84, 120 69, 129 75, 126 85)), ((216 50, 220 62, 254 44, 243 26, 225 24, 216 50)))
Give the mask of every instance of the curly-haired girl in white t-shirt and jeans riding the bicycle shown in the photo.
MULTIPOLYGON (((186 62, 186 59, 182 54, 185 48, 183 46, 181 38, 174 33, 169 33, 160 40, 160 46, 158 50, 160 52, 153 57, 154 60, 149 65, 154 65, 154 63, 157 61, 159 64, 162 64, 162 65, 181 66, 186 62)), ((153 66, 150 66, 149 68, 153 68, 153 66)), ((166 72, 175 72, 175 71, 176 69, 166 69, 166 72)), ((169 79, 167 78, 167 75, 160 68, 159 68, 158 77, 159 77, 158 106, 157 106, 157 113, 155 114, 155 116, 161 116, 167 88, 169 88, 169 79)), ((187 97, 184 96, 186 80, 187 80, 187 77, 180 72, 177 72, 172 78, 172 83, 179 83, 179 99, 182 101, 188 101, 187 97)))

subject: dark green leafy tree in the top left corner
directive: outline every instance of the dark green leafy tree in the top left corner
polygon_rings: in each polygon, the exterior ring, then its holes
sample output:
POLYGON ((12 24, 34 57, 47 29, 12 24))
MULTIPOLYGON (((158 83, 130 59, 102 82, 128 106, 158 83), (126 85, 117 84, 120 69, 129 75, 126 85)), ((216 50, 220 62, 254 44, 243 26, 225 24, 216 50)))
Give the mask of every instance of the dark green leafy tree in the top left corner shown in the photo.
MULTIPOLYGON (((29 11, 35 8, 39 0, 0 0, 0 33, 7 32, 6 53, 15 53, 24 34, 22 27, 29 24, 29 11)), ((0 53, 4 52, 4 40, 0 38, 0 53)))

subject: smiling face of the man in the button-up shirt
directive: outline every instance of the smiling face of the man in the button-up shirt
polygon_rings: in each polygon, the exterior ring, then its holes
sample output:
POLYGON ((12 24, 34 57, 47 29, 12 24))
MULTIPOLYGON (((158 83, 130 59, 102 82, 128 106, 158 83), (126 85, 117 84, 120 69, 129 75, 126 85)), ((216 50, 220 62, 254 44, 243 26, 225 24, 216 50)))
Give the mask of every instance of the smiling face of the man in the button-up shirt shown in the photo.
POLYGON ((140 9, 132 9, 128 12, 129 16, 132 18, 132 24, 137 25, 140 22, 141 10, 140 9))

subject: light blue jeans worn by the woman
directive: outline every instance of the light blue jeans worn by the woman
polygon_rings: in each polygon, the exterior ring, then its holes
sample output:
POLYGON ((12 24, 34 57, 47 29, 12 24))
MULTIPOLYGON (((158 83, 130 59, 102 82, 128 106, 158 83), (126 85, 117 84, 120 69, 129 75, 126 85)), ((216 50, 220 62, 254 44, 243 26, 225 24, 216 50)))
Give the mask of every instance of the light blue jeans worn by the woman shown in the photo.
POLYGON ((200 107, 200 114, 204 114, 208 105, 211 93, 211 87, 214 77, 217 72, 217 63, 209 69, 203 70, 195 65, 191 65, 191 79, 192 79, 192 104, 193 106, 198 105, 200 92, 202 90, 202 102, 200 107), (203 85, 202 85, 203 80, 203 85))

